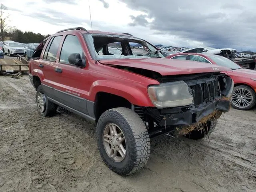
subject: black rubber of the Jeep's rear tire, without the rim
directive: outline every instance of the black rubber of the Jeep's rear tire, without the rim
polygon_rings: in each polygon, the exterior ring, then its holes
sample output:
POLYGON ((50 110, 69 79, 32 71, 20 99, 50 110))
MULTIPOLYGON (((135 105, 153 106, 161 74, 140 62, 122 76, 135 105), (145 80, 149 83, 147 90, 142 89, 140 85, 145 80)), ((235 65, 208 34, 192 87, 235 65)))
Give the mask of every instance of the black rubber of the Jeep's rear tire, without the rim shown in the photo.
POLYGON ((38 97, 38 93, 43 94, 44 96, 44 103, 45 103, 45 109, 44 112, 40 112, 38 110, 38 113, 44 117, 51 117, 56 114, 57 105, 50 102, 47 98, 47 95, 44 93, 44 89, 42 85, 39 85, 36 90, 36 98, 38 97))

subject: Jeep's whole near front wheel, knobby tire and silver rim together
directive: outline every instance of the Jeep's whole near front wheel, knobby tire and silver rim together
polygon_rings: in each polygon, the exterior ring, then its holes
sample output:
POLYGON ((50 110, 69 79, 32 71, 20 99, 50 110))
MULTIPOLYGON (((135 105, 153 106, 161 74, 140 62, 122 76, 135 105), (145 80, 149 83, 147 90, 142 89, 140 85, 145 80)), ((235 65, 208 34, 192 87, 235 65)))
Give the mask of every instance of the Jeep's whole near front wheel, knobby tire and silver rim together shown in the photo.
POLYGON ((97 123, 98 149, 104 163, 119 175, 144 167, 150 156, 150 139, 140 116, 128 108, 105 111, 97 123))

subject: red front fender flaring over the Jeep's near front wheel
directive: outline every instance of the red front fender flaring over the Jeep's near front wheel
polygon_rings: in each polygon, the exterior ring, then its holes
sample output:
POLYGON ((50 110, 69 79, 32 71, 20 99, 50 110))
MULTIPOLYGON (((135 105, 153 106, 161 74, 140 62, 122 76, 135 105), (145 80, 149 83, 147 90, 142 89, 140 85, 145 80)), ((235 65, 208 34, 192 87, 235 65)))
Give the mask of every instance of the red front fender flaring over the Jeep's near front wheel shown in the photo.
POLYGON ((148 97, 147 87, 144 84, 123 84, 120 82, 98 80, 90 88, 90 97, 95 100, 98 92, 106 92, 123 97, 134 105, 154 107, 148 97))

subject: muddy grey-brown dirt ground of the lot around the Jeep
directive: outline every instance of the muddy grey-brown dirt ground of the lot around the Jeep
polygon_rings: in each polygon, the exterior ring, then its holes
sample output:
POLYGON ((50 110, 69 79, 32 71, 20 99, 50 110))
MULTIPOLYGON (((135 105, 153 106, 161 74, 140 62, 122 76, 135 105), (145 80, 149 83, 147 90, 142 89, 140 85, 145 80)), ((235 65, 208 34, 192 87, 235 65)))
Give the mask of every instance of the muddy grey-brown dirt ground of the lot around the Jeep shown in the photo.
POLYGON ((256 110, 231 109, 208 138, 151 141, 139 173, 121 177, 100 158, 95 127, 66 110, 36 112, 28 76, 0 76, 0 191, 256 191, 256 110))

